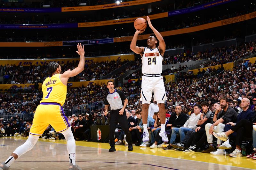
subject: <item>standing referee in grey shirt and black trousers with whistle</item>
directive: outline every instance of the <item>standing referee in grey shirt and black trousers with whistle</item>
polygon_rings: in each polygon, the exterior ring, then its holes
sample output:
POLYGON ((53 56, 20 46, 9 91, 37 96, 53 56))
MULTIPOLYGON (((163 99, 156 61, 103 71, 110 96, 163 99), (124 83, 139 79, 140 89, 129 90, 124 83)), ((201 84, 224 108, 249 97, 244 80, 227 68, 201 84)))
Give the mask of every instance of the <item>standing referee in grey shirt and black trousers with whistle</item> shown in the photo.
POLYGON ((114 89, 114 83, 113 81, 108 81, 107 83, 108 87, 108 95, 105 97, 105 112, 104 115, 107 115, 108 107, 110 105, 111 112, 110 112, 110 121, 109 121, 109 144, 110 149, 109 152, 116 151, 115 148, 115 129, 116 124, 119 123, 121 128, 124 130, 126 135, 126 141, 128 142, 128 151, 133 151, 132 148, 132 137, 131 133, 129 131, 128 122, 126 114, 124 113, 125 106, 128 103, 128 99, 124 95, 123 92, 120 90, 114 89))

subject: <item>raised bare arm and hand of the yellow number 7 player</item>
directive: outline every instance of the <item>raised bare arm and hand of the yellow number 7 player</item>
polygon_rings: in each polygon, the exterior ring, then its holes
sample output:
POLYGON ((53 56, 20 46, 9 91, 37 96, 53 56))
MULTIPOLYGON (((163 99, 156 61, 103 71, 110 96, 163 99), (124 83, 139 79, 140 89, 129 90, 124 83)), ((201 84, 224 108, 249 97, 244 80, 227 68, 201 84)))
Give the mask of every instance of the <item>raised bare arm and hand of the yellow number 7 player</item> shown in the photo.
POLYGON ((70 78, 70 77, 76 76, 77 74, 81 73, 84 70, 84 45, 82 46, 80 43, 80 44, 77 44, 76 46, 78 49, 76 53, 80 55, 80 61, 78 63, 78 66, 73 70, 69 69, 65 71, 61 75, 61 78, 70 78))

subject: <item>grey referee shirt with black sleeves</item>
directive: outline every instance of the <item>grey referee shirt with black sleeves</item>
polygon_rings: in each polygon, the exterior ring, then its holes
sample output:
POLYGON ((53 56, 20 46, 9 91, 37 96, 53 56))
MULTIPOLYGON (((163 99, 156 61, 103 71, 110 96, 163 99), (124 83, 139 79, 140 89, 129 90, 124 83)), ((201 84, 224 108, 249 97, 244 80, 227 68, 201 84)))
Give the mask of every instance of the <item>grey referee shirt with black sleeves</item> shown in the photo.
POLYGON ((105 97, 105 105, 110 105, 111 110, 121 109, 124 106, 124 100, 126 99, 125 94, 120 90, 110 93, 105 97))

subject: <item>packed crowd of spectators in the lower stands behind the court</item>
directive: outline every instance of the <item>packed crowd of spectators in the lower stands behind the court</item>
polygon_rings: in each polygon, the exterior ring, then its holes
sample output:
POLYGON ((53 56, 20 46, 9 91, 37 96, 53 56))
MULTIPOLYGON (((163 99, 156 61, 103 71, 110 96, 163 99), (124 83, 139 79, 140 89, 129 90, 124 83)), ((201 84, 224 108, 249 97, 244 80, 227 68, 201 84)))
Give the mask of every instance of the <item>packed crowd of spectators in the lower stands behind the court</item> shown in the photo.
MULTIPOLYGON (((148 123, 150 125, 149 127, 151 127, 149 128, 151 129, 151 141, 148 143, 141 142, 141 130, 138 128, 141 122, 140 81, 137 81, 135 84, 128 82, 122 86, 116 85, 116 89, 123 91, 129 100, 126 110, 127 117, 132 116, 132 118, 135 118, 137 120, 135 120, 135 123, 129 122, 131 123, 130 131, 132 132, 132 139, 134 143, 136 145, 140 145, 141 147, 163 147, 164 150, 178 149, 180 151, 186 152, 212 152, 212 154, 214 155, 226 154, 226 151, 221 148, 231 149, 231 144, 236 144, 233 145, 233 147, 235 147, 233 148, 234 152, 230 153, 233 154, 234 157, 242 156, 242 153, 238 151, 242 147, 241 142, 244 139, 243 135, 239 136, 237 134, 236 136, 230 137, 230 143, 225 142, 221 144, 221 142, 218 141, 216 144, 214 143, 215 140, 213 140, 211 134, 207 134, 209 133, 210 127, 208 127, 209 124, 206 123, 212 123, 212 119, 214 119, 213 114, 217 113, 216 110, 218 110, 220 105, 225 106, 225 104, 223 103, 228 104, 229 107, 227 106, 227 108, 232 111, 232 114, 230 115, 231 117, 225 117, 225 119, 223 117, 224 122, 233 122, 239 124, 240 121, 245 121, 243 118, 247 119, 247 121, 255 122, 255 71, 255 63, 245 64, 244 62, 240 62, 232 70, 223 70, 222 72, 219 72, 219 74, 214 73, 214 76, 211 77, 210 75, 206 74, 202 75, 202 77, 197 77, 197 75, 193 77, 189 74, 185 74, 182 77, 178 77, 176 82, 167 83, 165 85, 167 93, 167 101, 165 103, 166 128, 168 129, 168 127, 172 126, 175 127, 172 130, 170 129, 171 133, 169 135, 169 143, 162 143, 161 139, 159 139, 159 122, 157 122, 159 121, 159 118, 157 118, 158 109, 154 101, 152 101, 152 103, 150 104, 148 117, 148 123), (240 114, 242 114, 242 116, 239 116, 240 114), (177 115, 182 115, 182 118, 176 120, 177 115), (191 117, 190 119, 189 116, 191 117), (198 120, 201 121, 200 123, 203 122, 200 126, 198 120), (154 123, 155 121, 158 124, 154 123), (189 130, 185 129, 184 131, 185 125, 183 128, 183 124, 186 124, 186 127, 188 127, 189 130), (191 124, 193 124, 193 126, 191 124), (199 134, 195 131, 195 129, 198 130, 199 127, 202 129, 198 132, 201 132, 202 134, 199 134), (205 133, 205 130, 203 129, 207 129, 208 131, 206 130, 205 133), (188 130, 188 132, 186 130, 188 130), (185 132, 187 132, 186 136, 185 132), (180 134, 180 141, 179 137, 176 137, 177 134, 180 134), (236 139, 237 137, 240 137, 239 140, 236 139), (204 139, 203 142, 202 140, 199 140, 201 138, 204 139), (241 142, 239 143, 239 141, 241 142), (203 143, 205 144, 202 145, 203 143), (215 147, 215 145, 217 147, 215 147)), ((88 127, 95 123, 94 120, 96 119, 96 116, 100 115, 100 117, 104 117, 104 109, 99 108, 98 110, 90 110, 89 108, 87 108, 87 111, 85 113, 81 113, 81 115, 73 115, 74 110, 72 108, 74 106, 80 106, 82 104, 103 101, 103 96, 105 96, 107 92, 108 89, 104 84, 91 84, 87 85, 86 87, 76 88, 68 87, 67 100, 64 104, 66 115, 70 116, 69 120, 71 121, 73 127, 77 124, 81 125, 81 123, 86 125, 84 126, 84 129, 82 131, 79 131, 79 133, 74 131, 74 136, 77 137, 77 140, 90 141, 90 133, 88 131, 88 127), (90 116, 91 118, 89 118, 90 116), (79 122, 81 123, 79 124, 79 122)), ((26 136, 25 130, 29 129, 28 127, 30 122, 27 122, 27 125, 21 128, 20 124, 24 124, 24 122, 23 120, 19 119, 18 114, 34 112, 36 106, 39 104, 39 101, 41 99, 42 93, 37 92, 34 88, 20 89, 15 94, 11 94, 9 92, 6 94, 1 94, 0 113, 16 113, 17 115, 16 117, 11 118, 11 120, 1 120, 2 132, 3 129, 5 129, 6 132, 4 133, 4 135, 19 136, 20 134, 22 134, 22 136, 26 136), (11 130, 9 127, 11 127, 11 130)), ((104 118, 107 119, 107 117, 104 118)), ((134 122, 132 118, 130 118, 129 120, 134 122)), ((218 132, 223 132, 225 129, 228 128, 226 127, 227 125, 225 126, 225 124, 223 123, 220 124, 215 124, 218 127, 222 127, 219 128, 222 131, 219 130, 218 132)), ((63 136, 61 136, 60 134, 56 134, 56 132, 54 132, 51 127, 48 127, 44 134, 44 138, 63 139, 63 136)), ((246 141, 252 141, 251 138, 252 134, 245 134, 246 141)), ((243 142, 243 147, 245 142, 243 142)), ((125 144, 124 136, 121 135, 118 138, 116 144, 125 144)), ((246 152, 249 152, 251 150, 249 146, 252 147, 252 143, 249 142, 246 145, 246 152)), ((249 153, 247 154, 249 155, 249 153)), ((250 155, 248 157, 250 157, 250 155)))

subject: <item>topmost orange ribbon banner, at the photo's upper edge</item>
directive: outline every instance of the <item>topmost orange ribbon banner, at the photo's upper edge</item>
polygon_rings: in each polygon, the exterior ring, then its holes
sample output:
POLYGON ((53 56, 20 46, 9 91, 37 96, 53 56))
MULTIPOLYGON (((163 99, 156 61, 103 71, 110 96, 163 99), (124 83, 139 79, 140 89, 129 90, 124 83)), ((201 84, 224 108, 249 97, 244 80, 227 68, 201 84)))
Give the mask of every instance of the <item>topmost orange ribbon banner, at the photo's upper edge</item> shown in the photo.
POLYGON ((71 12, 71 11, 92 11, 92 10, 104 10, 109 8, 118 8, 132 5, 141 5, 148 4, 152 2, 157 2, 161 0, 137 0, 137 1, 129 1, 129 2, 120 2, 119 4, 104 4, 104 5, 95 5, 95 6, 75 6, 75 7, 63 7, 61 8, 62 12, 71 12))

